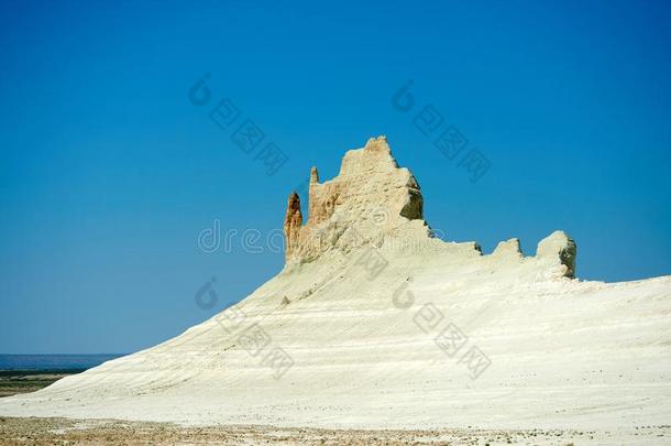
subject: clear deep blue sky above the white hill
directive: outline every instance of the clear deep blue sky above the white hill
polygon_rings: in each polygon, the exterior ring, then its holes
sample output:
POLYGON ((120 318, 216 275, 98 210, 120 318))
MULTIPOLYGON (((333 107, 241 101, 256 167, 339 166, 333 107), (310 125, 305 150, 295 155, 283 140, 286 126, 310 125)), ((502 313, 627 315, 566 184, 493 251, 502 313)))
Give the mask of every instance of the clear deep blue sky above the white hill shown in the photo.
POLYGON ((534 254, 561 228, 582 279, 670 274, 670 21, 666 1, 3 1, 0 352, 133 351, 239 301, 283 254, 208 254, 199 231, 280 228, 311 165, 330 178, 375 134, 451 240, 534 254), (286 153, 275 175, 208 118, 222 98, 286 153), (490 160, 479 182, 415 128, 426 105, 490 160))

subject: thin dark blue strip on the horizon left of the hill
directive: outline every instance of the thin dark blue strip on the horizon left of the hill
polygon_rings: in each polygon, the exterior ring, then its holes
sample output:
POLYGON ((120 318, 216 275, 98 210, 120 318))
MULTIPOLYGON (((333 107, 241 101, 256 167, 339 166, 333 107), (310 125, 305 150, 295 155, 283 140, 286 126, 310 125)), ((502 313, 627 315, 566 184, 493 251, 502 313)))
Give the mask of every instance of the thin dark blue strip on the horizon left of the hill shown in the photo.
POLYGON ((0 370, 86 370, 124 355, 0 355, 0 370))

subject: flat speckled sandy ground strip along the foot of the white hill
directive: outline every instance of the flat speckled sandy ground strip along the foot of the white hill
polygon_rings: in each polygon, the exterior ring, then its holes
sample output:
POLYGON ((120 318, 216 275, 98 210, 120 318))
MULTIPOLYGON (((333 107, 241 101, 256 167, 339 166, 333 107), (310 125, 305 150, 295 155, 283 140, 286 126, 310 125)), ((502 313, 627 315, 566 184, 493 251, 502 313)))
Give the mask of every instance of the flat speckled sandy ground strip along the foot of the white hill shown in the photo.
POLYGON ((0 444, 283 445, 647 445, 669 442, 671 426, 631 431, 362 431, 272 426, 184 427, 170 423, 0 417, 0 444))

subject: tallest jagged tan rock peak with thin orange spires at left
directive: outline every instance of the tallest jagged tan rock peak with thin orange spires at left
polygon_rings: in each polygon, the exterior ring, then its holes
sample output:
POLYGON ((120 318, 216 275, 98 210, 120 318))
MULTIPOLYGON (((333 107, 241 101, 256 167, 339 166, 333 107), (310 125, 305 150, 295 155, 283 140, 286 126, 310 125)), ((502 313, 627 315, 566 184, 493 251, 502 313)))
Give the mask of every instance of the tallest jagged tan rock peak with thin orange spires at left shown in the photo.
POLYGON ((372 229, 381 237, 408 220, 422 219, 419 185, 410 171, 398 167, 386 137, 348 151, 340 173, 330 181, 319 183, 312 167, 308 197, 305 226, 298 196, 289 197, 284 227, 287 261, 310 261, 330 249, 348 251, 369 241, 372 229))

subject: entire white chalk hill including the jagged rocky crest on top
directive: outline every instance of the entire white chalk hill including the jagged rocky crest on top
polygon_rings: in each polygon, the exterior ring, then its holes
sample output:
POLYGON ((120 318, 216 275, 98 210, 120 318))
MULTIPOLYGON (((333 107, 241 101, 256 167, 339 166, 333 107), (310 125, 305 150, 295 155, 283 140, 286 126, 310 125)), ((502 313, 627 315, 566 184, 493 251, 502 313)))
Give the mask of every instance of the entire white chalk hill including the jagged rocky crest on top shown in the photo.
POLYGON ((383 137, 311 172, 286 266, 180 336, 0 414, 332 427, 569 427, 671 420, 671 276, 574 279, 561 231, 525 257, 444 242, 383 137))

